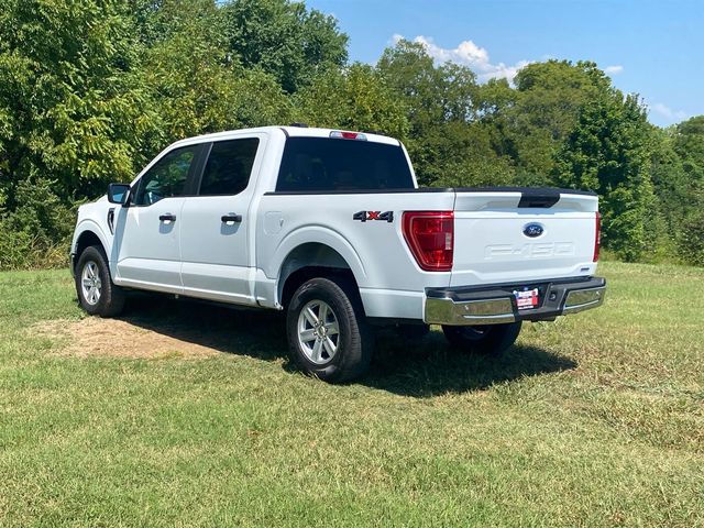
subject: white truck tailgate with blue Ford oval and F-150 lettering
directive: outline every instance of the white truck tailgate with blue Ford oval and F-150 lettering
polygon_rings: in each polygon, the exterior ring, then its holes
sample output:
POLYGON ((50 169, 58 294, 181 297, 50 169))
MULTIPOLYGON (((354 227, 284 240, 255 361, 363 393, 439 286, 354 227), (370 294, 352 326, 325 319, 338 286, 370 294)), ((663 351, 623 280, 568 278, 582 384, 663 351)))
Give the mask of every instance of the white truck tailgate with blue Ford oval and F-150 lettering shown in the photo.
POLYGON ((592 275, 597 207, 579 191, 458 189, 450 286, 592 275))

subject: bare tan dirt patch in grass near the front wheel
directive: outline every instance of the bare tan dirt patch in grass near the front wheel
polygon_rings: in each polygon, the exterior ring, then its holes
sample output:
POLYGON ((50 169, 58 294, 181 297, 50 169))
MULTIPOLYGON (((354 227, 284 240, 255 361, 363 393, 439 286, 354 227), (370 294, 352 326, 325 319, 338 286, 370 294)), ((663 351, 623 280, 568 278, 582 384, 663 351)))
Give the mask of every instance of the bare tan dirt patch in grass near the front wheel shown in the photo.
POLYGON ((193 342, 188 336, 161 333, 120 319, 88 317, 79 321, 44 321, 32 331, 66 341, 66 345, 57 351, 61 355, 197 359, 218 353, 217 348, 193 342))

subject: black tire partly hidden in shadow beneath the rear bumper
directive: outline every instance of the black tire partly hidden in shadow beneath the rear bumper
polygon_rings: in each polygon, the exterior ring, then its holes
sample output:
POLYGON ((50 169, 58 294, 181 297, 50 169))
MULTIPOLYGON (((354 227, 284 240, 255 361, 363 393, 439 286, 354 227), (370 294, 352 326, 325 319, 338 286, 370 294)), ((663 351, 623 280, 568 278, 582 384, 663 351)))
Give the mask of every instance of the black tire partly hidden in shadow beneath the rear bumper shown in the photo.
POLYGON ((444 337, 455 349, 486 355, 501 355, 520 333, 521 321, 479 327, 449 327, 443 324, 444 337))

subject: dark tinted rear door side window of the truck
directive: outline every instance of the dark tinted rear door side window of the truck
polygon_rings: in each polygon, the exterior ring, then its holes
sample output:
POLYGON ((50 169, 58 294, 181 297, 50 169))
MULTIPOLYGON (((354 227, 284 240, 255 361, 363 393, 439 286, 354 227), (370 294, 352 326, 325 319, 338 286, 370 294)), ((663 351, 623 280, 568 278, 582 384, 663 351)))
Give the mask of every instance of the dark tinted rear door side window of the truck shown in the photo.
POLYGON ((213 143, 202 173, 200 196, 242 193, 250 183, 258 144, 256 138, 213 143))

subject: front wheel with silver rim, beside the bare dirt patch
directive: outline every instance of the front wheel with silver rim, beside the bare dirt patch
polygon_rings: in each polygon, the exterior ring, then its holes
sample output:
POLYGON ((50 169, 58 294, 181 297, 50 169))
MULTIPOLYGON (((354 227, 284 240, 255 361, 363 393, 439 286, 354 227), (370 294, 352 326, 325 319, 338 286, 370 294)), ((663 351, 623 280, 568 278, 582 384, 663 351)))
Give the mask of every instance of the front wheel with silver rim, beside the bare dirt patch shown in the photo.
POLYGON ((86 248, 78 257, 76 295, 80 307, 91 316, 114 317, 124 308, 124 290, 112 282, 102 248, 86 248))

